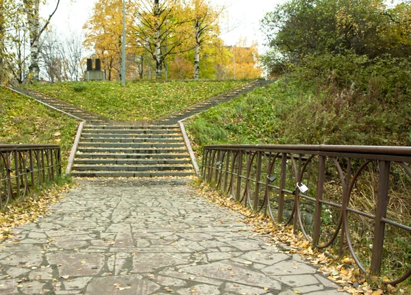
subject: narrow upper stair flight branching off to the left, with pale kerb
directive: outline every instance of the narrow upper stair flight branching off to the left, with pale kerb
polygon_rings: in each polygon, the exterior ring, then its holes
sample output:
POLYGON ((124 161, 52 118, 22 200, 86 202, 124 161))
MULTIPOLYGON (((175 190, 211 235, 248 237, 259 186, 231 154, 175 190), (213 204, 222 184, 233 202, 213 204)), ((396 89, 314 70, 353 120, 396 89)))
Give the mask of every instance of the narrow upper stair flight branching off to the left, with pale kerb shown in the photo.
POLYGON ((60 99, 55 99, 53 97, 49 97, 45 94, 41 94, 40 92, 36 92, 34 90, 29 90, 29 89, 14 88, 14 90, 16 92, 21 92, 27 95, 28 97, 32 97, 36 99, 37 101, 40 101, 40 103, 45 103, 46 105, 49 105, 50 107, 53 107, 56 110, 59 110, 61 112, 74 116, 75 118, 85 120, 87 121, 87 123, 95 124, 95 125, 108 123, 108 121, 105 120, 105 118, 103 118, 102 116, 99 116, 92 112, 88 112, 82 109, 81 107, 76 107, 75 105, 72 105, 71 103, 60 101, 60 99))

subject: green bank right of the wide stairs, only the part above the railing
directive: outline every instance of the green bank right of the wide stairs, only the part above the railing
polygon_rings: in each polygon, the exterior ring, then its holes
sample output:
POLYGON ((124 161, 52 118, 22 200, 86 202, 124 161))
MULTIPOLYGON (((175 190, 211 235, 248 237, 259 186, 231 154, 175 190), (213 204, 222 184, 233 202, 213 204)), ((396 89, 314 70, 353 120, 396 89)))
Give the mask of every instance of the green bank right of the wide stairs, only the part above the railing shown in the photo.
POLYGON ((188 131, 204 144, 411 144, 411 101, 338 102, 325 91, 278 82, 196 116, 188 131))

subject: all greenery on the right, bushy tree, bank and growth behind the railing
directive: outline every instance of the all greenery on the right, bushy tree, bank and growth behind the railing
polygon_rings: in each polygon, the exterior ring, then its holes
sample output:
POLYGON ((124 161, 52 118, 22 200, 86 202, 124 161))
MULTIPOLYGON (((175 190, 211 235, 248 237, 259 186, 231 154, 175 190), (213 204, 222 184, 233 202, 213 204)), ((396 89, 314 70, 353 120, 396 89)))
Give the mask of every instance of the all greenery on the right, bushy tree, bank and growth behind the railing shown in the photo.
MULTIPOLYGON (((410 146, 410 4, 290 0, 278 5, 262 20, 270 47, 262 64, 279 82, 193 118, 187 129, 198 155, 204 144, 225 143, 410 146)), ((327 172, 330 177, 334 170, 327 172)), ((410 225, 411 179, 397 168, 391 172, 388 216, 410 225)), ((377 167, 362 173, 351 207, 375 213, 378 174, 377 167)), ((327 185, 326 197, 340 201, 338 180, 327 185)), ((339 216, 338 209, 328 209, 330 216, 339 216)), ((329 218, 334 226, 337 221, 329 218)), ((366 266, 366 245, 373 237, 369 224, 349 217, 356 253, 366 266)), ((382 276, 400 277, 411 267, 410 235, 387 227, 385 239, 382 276)), ((410 294, 410 282, 387 294, 410 294)))

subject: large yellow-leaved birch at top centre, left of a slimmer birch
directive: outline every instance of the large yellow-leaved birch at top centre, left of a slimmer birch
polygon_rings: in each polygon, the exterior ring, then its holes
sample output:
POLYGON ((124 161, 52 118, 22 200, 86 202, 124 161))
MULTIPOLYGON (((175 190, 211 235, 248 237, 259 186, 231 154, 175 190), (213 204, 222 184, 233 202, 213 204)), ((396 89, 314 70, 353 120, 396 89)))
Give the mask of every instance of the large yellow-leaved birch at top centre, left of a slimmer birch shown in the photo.
POLYGON ((139 0, 134 3, 134 36, 155 60, 155 77, 161 79, 162 65, 169 55, 189 49, 186 10, 181 0, 139 0))

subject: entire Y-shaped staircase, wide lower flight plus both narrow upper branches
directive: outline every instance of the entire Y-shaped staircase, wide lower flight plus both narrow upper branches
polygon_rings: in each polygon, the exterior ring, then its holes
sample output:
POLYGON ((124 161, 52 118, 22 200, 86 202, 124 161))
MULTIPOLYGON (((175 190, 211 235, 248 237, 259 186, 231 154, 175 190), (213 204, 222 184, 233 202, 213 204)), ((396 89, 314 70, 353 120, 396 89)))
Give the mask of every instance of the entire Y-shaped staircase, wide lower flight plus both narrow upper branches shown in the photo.
POLYGON ((147 126, 121 125, 34 90, 14 90, 86 121, 71 168, 73 177, 188 177, 195 171, 177 122, 271 83, 273 81, 254 81, 181 112, 147 122, 147 126))

